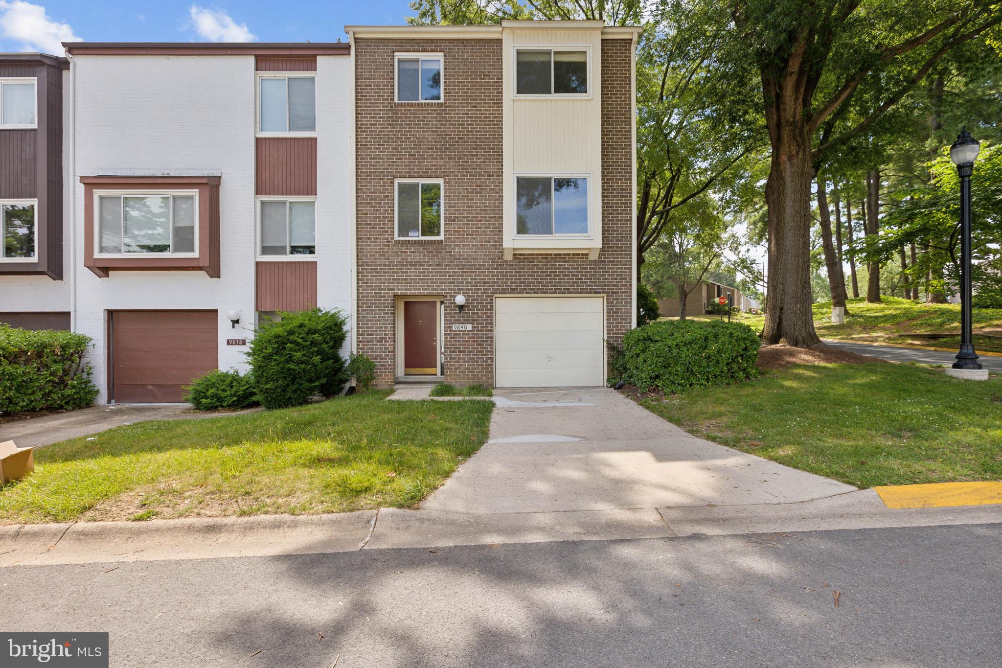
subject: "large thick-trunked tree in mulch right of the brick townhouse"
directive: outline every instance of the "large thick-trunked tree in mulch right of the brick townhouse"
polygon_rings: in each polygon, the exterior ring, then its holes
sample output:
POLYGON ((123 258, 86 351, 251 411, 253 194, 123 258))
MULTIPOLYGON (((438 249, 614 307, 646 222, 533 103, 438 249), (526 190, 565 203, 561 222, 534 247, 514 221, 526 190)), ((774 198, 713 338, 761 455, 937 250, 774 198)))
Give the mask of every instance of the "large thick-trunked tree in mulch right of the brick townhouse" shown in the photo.
MULTIPOLYGON (((816 161, 864 135, 957 45, 1002 22, 996 0, 730 0, 743 52, 761 74, 772 146, 769 308, 763 339, 820 342, 811 309, 811 181, 816 161), (876 94, 862 117, 814 145, 861 89, 876 94), (816 96, 818 100, 816 100, 816 96)), ((746 57, 746 56, 745 56, 746 57)))

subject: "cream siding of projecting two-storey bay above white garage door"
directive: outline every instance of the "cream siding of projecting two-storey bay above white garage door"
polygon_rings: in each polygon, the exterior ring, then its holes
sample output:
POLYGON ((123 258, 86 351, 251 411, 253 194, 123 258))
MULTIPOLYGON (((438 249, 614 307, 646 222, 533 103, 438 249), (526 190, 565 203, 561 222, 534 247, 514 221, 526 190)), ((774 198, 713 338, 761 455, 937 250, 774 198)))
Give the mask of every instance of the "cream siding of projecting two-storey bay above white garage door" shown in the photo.
POLYGON ((515 252, 591 252, 602 245, 602 33, 598 28, 505 29, 504 44, 504 246, 515 252), (585 95, 530 98, 515 94, 519 48, 587 51, 585 95), (588 238, 515 238, 513 174, 589 174, 588 238))

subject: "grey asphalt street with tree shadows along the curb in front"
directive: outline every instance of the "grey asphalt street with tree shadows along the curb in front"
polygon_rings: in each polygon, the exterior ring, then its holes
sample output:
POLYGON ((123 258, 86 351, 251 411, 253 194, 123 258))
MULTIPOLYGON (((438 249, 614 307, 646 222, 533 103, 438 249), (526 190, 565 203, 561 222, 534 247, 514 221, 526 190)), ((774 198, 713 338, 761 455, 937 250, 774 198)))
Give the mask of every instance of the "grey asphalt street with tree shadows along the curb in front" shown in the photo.
POLYGON ((1002 524, 0 569, 113 666, 988 666, 1002 524))

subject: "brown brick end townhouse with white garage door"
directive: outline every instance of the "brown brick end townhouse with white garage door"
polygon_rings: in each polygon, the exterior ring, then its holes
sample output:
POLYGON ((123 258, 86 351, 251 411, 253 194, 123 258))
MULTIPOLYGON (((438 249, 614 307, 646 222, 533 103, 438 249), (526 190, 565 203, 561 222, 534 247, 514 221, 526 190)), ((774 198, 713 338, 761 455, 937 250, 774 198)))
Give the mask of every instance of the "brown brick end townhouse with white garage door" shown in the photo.
POLYGON ((377 382, 601 386, 635 326, 636 28, 349 26, 377 382))

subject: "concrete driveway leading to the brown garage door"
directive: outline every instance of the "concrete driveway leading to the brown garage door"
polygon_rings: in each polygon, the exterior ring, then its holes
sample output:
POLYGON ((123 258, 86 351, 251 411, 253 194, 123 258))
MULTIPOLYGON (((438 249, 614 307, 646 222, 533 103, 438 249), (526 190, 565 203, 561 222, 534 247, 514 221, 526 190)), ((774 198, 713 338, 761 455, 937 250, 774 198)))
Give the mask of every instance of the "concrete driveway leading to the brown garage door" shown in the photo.
POLYGON ((0 442, 13 441, 18 448, 47 446, 66 439, 89 436, 113 427, 148 420, 204 420, 239 415, 238 413, 185 413, 190 410, 191 406, 188 404, 92 406, 79 411, 3 423, 0 425, 0 442))

